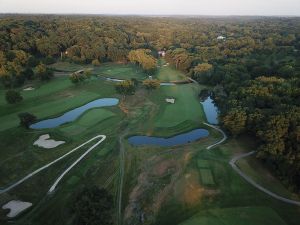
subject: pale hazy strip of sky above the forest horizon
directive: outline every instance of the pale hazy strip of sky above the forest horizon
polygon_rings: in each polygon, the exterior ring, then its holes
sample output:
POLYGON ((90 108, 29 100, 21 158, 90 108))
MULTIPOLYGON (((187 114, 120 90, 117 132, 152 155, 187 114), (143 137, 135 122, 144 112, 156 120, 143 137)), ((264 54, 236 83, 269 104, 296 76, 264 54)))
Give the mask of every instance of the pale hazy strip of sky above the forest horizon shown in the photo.
POLYGON ((300 16, 300 0, 0 0, 0 12, 300 16))

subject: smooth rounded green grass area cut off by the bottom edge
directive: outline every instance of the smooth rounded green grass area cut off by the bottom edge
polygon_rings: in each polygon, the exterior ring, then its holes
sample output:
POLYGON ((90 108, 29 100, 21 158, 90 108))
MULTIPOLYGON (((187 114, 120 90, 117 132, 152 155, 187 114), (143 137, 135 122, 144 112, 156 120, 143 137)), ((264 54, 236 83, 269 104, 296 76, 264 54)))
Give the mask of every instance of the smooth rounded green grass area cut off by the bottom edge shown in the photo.
POLYGON ((208 210, 193 216, 180 225, 286 225, 268 207, 241 207, 208 210))

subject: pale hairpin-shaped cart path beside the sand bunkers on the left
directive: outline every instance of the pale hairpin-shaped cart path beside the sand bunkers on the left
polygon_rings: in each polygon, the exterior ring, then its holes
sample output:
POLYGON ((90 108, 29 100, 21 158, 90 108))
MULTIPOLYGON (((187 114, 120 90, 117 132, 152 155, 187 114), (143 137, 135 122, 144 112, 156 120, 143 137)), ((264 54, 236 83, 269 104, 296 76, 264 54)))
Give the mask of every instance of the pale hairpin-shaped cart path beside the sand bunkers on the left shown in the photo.
POLYGON ((36 175, 37 173, 47 169, 48 167, 52 166, 53 164, 57 163, 58 161, 62 160, 63 158, 67 157, 68 155, 72 154, 73 152, 77 151, 78 149, 80 149, 81 147, 85 146, 86 144, 90 143, 91 141, 101 138, 100 141, 98 141, 96 144, 94 144, 92 147, 90 147, 83 155, 81 155, 70 167, 68 167, 61 176, 58 177, 58 179, 55 181, 55 183, 51 186, 50 190, 48 193, 51 193, 54 191, 54 189, 56 188, 57 184, 59 183, 59 181, 63 178, 63 176, 68 173, 80 160, 82 160, 90 151, 92 151, 96 146, 98 146, 102 141, 105 140, 106 136, 105 135, 97 135, 93 138, 91 138, 90 140, 84 142, 83 144, 77 146, 76 148, 72 149, 71 151, 69 151, 68 153, 64 154, 63 156, 53 160, 52 162, 40 167, 39 169, 33 171, 32 173, 28 174, 27 176, 23 177, 22 179, 20 179, 19 181, 15 182, 14 184, 4 188, 4 189, 0 189, 0 194, 6 193, 8 191, 10 191, 11 189, 15 188, 16 186, 22 184, 23 182, 25 182, 26 180, 28 180, 29 178, 33 177, 34 175, 36 175))

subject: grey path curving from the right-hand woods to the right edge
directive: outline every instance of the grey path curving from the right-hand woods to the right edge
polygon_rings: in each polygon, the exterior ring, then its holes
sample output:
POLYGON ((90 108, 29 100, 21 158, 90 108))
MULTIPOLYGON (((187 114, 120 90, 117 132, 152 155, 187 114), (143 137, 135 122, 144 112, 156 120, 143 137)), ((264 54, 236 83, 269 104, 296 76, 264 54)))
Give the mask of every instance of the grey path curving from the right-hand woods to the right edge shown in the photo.
POLYGON ((285 202, 285 203, 289 203, 289 204, 293 204, 293 205, 297 205, 297 206, 300 206, 300 202, 299 201, 294 201, 294 200, 291 200, 291 199, 288 199, 288 198, 284 198, 280 195, 277 195, 269 190, 267 190, 266 188, 260 186, 258 183, 256 183, 254 180, 252 180, 249 176, 247 176, 243 171, 241 171, 237 165, 236 165, 236 162, 239 160, 239 159, 242 159, 242 158, 245 158, 245 157, 248 157, 250 155, 253 155, 255 154, 256 151, 252 151, 252 152, 248 152, 248 153, 244 153, 244 154, 241 154, 241 155, 238 155, 238 156, 235 156, 234 158, 232 158, 229 162, 229 164, 231 165, 231 167, 241 176, 243 177, 246 181, 248 181, 250 184, 252 184, 254 187, 256 187, 257 189, 259 189, 260 191, 272 196, 273 198, 276 198, 282 202, 285 202))

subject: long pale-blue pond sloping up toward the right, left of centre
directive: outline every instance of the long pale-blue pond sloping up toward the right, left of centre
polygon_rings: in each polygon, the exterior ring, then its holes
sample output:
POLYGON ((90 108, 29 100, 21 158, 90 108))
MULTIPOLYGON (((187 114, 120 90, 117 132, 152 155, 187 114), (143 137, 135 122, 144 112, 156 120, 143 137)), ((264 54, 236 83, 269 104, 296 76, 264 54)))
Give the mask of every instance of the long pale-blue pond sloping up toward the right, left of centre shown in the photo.
POLYGON ((62 124, 76 120, 80 115, 82 115, 84 112, 86 112, 89 109, 100 108, 100 107, 104 107, 104 106, 113 106, 113 105, 117 105, 118 103, 119 103, 119 99, 117 99, 117 98, 97 99, 97 100, 89 102, 81 107, 72 109, 71 111, 66 112, 65 114, 63 114, 59 117, 56 117, 53 119, 42 120, 40 122, 34 123, 30 126, 30 128, 31 129, 46 129, 46 128, 58 127, 62 124))

